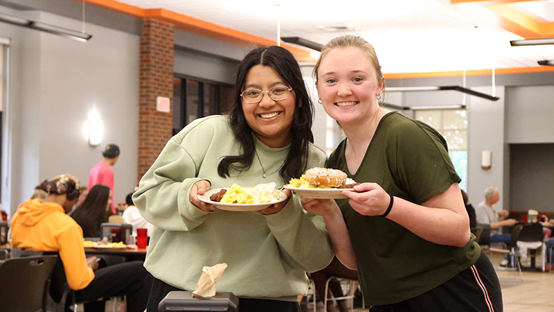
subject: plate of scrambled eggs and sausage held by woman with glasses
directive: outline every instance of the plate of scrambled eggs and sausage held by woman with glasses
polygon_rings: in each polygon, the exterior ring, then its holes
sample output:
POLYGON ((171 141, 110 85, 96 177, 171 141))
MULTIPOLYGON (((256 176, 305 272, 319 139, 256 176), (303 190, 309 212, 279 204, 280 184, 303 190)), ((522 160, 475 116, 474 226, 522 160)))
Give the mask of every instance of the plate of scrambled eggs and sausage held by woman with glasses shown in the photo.
POLYGON ((217 209, 229 211, 257 211, 287 200, 287 195, 276 189, 276 183, 258 184, 256 187, 232 187, 211 189, 198 195, 202 202, 217 209))

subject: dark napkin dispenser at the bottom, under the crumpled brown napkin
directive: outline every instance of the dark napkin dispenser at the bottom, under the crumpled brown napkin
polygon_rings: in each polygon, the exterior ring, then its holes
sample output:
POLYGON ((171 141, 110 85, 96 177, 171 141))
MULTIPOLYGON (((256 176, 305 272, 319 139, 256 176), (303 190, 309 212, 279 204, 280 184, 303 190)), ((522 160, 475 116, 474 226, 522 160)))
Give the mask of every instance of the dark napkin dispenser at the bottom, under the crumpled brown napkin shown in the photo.
POLYGON ((215 293, 213 297, 195 298, 192 291, 170 291, 158 305, 158 311, 237 312, 238 298, 233 293, 215 293))

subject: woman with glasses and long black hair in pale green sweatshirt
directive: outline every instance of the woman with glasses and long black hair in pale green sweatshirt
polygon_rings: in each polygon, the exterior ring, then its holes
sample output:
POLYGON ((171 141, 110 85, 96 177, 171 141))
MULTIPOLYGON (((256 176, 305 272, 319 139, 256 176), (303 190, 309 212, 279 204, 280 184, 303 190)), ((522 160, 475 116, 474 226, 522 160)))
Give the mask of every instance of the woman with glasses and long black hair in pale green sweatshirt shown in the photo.
POLYGON ((143 176, 133 201, 154 225, 145 267, 156 281, 148 311, 170 291, 193 291, 202 268, 226 263, 215 289, 232 292, 241 312, 301 311, 306 272, 333 257, 323 219, 299 199, 260 211, 225 211, 197 195, 233 184, 283 187, 325 153, 312 143, 313 105, 301 69, 279 46, 240 62, 227 116, 197 119, 172 137, 143 176))

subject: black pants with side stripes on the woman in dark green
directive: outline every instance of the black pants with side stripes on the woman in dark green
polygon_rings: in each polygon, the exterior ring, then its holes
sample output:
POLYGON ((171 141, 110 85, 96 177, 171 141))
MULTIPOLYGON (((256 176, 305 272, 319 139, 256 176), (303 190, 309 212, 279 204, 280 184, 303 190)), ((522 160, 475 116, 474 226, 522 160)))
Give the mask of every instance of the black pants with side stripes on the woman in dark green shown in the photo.
POLYGON ((477 262, 444 284, 409 300, 372 306, 370 312, 502 312, 497 272, 481 251, 477 262))

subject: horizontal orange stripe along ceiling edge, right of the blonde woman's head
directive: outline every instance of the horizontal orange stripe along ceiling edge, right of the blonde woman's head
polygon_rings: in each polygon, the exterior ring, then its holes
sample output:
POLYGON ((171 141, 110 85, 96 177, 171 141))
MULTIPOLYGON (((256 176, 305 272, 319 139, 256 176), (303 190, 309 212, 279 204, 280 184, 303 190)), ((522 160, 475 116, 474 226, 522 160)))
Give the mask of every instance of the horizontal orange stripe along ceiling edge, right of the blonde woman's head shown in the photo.
MULTIPOLYGON (((543 73, 554 71, 554 66, 542 67, 517 67, 517 68, 497 68, 494 73, 496 75, 510 73, 543 73)), ((465 76, 490 76, 492 69, 479 69, 465 71, 465 76)), ((428 73, 384 73, 386 79, 401 79, 401 78, 436 78, 436 77, 461 77, 463 71, 437 71, 428 73)))

